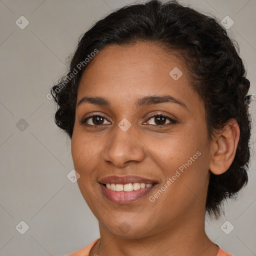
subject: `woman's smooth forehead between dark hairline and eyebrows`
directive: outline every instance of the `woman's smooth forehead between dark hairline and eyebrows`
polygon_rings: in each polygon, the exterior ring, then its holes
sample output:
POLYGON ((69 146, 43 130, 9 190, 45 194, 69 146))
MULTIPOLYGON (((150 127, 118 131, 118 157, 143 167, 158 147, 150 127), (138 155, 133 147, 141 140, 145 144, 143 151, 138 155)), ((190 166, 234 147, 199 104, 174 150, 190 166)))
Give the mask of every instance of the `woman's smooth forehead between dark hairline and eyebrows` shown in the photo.
POLYGON ((195 101, 198 97, 190 81, 181 59, 153 43, 106 45, 84 70, 77 102, 84 95, 100 95, 127 103, 135 97, 171 94, 194 104, 191 96, 195 101))

